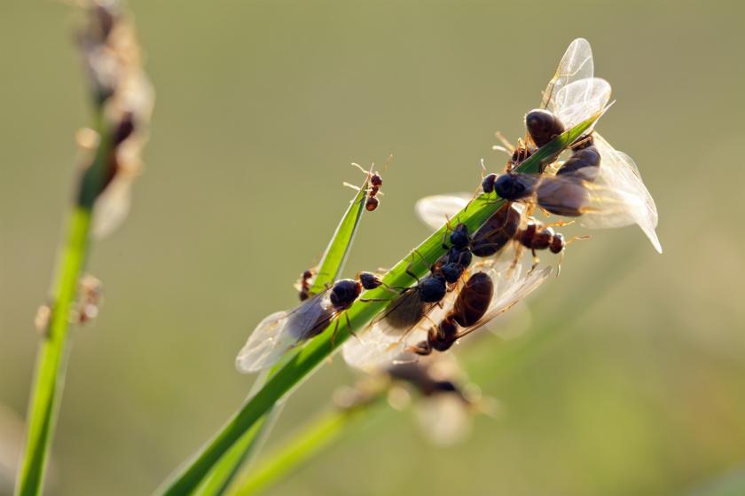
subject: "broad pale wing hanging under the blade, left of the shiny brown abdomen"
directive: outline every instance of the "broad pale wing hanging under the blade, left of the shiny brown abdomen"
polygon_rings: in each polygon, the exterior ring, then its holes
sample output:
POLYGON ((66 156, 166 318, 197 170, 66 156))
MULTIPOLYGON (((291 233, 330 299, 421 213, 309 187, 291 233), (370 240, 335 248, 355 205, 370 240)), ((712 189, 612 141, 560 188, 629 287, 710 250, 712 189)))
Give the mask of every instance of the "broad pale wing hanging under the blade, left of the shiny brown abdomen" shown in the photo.
MULTIPOLYGON (((461 279, 466 278, 464 275, 461 279)), ((404 296, 419 298, 416 291, 410 291, 404 296)), ((401 307, 396 307, 396 303, 392 303, 391 308, 382 317, 373 320, 363 332, 357 333, 357 339, 353 336, 344 342, 341 349, 344 360, 350 366, 365 372, 386 368, 395 362, 416 361, 419 356, 408 349, 427 339, 429 328, 439 324, 451 311, 457 296, 458 289, 455 289, 445 295, 440 304, 427 303, 422 317, 406 327, 395 325, 394 312, 401 307)), ((407 300, 404 300, 401 304, 406 303, 407 300)))

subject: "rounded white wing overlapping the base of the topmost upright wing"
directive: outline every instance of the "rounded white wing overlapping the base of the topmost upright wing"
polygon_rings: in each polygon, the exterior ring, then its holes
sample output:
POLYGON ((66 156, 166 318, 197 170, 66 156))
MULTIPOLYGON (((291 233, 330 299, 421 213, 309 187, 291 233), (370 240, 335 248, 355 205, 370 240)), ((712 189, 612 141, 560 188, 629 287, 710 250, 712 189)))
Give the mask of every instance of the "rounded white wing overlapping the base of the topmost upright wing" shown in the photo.
POLYGON ((569 129, 598 114, 608 105, 609 99, 610 83, 599 77, 589 77, 569 83, 557 91, 548 109, 569 129))

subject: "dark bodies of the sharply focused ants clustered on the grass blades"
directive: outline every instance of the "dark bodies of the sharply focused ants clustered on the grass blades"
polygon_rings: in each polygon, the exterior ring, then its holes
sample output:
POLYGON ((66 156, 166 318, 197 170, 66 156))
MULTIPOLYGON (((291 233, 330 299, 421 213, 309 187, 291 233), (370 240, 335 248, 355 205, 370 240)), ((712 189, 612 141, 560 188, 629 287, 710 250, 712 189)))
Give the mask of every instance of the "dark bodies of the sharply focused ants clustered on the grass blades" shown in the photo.
MULTIPOLYGON (((416 279, 417 284, 403 289, 399 294, 403 297, 402 300, 386 314, 386 319, 391 320, 395 327, 413 325, 422 318, 427 304, 442 302, 445 295, 459 284, 464 272, 472 264, 474 256, 496 256, 508 243, 516 242, 521 248, 531 251, 532 269, 535 269, 538 263, 537 250, 549 250, 553 254, 563 256, 564 248, 569 242, 583 238, 565 240, 561 233, 553 231, 553 226, 566 225, 568 222, 542 224, 530 216, 533 208, 530 204, 528 211, 524 211, 525 207, 515 202, 533 198, 537 206, 547 212, 569 217, 581 215, 584 189, 579 180, 592 181, 597 177, 600 166, 600 154, 593 145, 592 136, 579 138, 570 147, 569 159, 564 161, 556 172, 556 177, 568 179, 569 182, 541 182, 540 176, 515 173, 514 168, 527 160, 538 148, 561 135, 565 127, 555 114, 543 109, 530 111, 526 115, 525 125, 528 137, 524 141, 520 140, 518 146, 513 148, 512 156, 507 162, 506 173, 482 175, 482 192, 497 193, 506 203, 473 234, 468 232, 466 224, 451 227, 448 221, 448 231, 443 237, 443 249, 447 251, 429 267, 427 276, 419 279, 411 272, 411 264, 406 269, 406 273, 416 279), (572 182, 572 178, 576 178, 577 181, 572 182), (579 187, 568 188, 568 185, 579 187), (524 216, 527 216, 527 219, 523 223, 524 216)), ((365 207, 374 210, 379 204, 376 195, 380 192, 382 178, 379 173, 373 173, 372 170, 365 173, 369 174, 370 184, 365 207)), ((518 257, 520 253, 518 250, 518 257)), ((313 272, 310 270, 302 273, 299 283, 302 301, 310 295, 312 277, 313 272)), ((356 279, 336 281, 329 288, 333 314, 348 309, 363 289, 374 289, 381 284, 382 281, 371 272, 360 272, 356 279)), ((489 310, 493 292, 494 283, 488 273, 479 271, 471 274, 460 287, 451 311, 439 324, 429 329, 425 341, 416 344, 410 351, 426 356, 433 350, 449 350, 454 342, 465 335, 466 329, 482 320, 489 310)))

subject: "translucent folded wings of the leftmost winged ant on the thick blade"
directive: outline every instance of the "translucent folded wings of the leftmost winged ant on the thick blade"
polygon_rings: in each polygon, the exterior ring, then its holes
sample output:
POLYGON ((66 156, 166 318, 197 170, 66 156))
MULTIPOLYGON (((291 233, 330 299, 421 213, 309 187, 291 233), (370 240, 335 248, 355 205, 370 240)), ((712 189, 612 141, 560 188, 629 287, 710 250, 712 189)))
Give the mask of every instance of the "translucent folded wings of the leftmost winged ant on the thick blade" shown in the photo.
POLYGON ((236 368, 243 374, 251 374, 273 366, 330 318, 331 311, 323 293, 302 302, 292 311, 272 313, 248 336, 235 358, 236 368))

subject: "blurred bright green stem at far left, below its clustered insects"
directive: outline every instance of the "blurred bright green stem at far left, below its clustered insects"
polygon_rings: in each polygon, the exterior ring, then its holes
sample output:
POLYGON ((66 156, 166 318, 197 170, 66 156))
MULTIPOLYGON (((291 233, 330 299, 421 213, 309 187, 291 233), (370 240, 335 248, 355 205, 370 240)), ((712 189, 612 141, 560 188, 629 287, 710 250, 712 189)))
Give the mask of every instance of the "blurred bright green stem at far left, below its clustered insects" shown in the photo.
POLYGON ((36 357, 34 389, 27 417, 26 451, 20 466, 18 496, 39 494, 67 369, 70 309, 88 254, 91 210, 75 207, 67 227, 67 243, 53 289, 51 321, 36 357))

